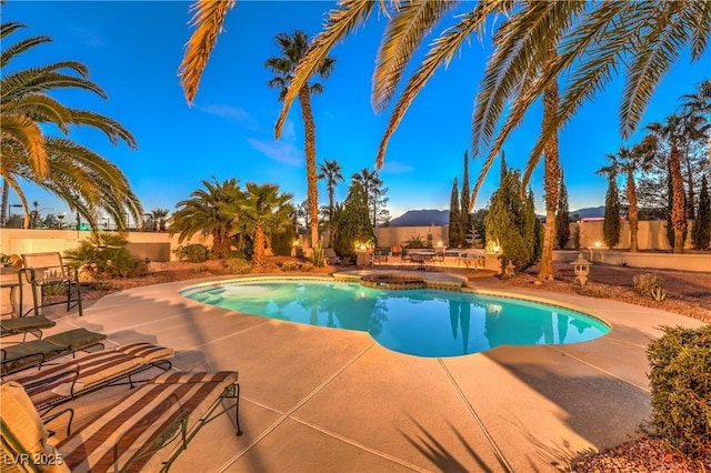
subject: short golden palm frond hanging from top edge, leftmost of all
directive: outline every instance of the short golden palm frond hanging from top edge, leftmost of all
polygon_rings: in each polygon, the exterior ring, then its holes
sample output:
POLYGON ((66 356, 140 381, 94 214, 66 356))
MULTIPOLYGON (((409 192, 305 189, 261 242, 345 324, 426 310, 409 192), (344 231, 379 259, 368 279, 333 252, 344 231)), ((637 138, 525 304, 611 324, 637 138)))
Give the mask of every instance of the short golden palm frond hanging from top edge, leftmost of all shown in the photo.
POLYGON ((210 59, 210 53, 222 32, 228 11, 234 7, 237 0, 198 0, 190 10, 194 11, 190 26, 196 28, 186 44, 186 53, 178 68, 180 84, 186 100, 192 104, 202 71, 210 59))

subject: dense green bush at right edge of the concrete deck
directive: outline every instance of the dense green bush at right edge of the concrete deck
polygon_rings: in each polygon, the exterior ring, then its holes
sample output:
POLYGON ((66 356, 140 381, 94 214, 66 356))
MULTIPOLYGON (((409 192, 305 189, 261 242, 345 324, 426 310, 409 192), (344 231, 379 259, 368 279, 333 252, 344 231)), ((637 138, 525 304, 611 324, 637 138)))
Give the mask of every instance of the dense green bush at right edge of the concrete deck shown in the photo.
POLYGON ((711 461, 711 325, 662 330, 647 348, 652 425, 672 449, 711 461))

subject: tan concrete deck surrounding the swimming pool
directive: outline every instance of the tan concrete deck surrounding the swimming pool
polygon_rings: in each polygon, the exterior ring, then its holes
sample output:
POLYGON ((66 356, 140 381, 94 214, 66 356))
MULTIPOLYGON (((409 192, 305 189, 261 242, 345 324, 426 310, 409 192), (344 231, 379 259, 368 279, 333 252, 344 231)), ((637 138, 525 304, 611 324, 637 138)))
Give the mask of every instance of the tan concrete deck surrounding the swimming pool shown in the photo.
MULTIPOLYGON (((240 314, 179 295, 197 282, 203 281, 110 294, 88 304, 82 318, 60 309, 46 332, 86 328, 108 334, 107 346, 137 340, 171 346, 179 370, 239 372, 244 434, 236 436, 230 417, 219 417, 179 456, 176 472, 557 471, 580 453, 638 436, 651 413, 649 340, 660 325, 703 325, 611 300, 510 291, 487 278, 470 286, 587 308, 611 331, 578 344, 425 359, 389 351, 364 332, 240 314)), ((70 403, 74 425, 126 394, 116 386, 70 403)))

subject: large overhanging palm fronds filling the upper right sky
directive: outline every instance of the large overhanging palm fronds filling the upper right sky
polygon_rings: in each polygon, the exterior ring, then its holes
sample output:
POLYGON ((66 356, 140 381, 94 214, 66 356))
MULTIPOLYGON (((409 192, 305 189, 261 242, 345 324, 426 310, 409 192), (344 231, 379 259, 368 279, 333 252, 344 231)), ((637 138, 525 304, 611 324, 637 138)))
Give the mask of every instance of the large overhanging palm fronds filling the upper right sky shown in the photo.
MULTIPOLYGON (((319 61, 336 43, 368 20, 375 3, 381 9, 385 8, 384 2, 353 0, 331 10, 324 30, 314 38, 296 71, 277 122, 277 135, 298 89, 314 73, 319 61)), ((402 89, 381 141, 377 165, 382 164, 388 140, 428 79, 457 54, 472 33, 481 33, 488 18, 501 12, 515 17, 515 21, 503 22, 494 33, 495 49, 474 101, 472 148, 477 153, 490 145, 482 175, 528 109, 563 71, 571 80, 560 99, 560 107, 547 122, 531 152, 523 177, 524 187, 543 154, 547 141, 612 79, 619 64, 627 68, 620 104, 620 131, 627 139, 637 129, 660 79, 682 51, 690 49, 692 61, 703 56, 711 37, 711 9, 707 3, 477 2, 457 17, 457 24, 445 29, 432 42, 422 63, 402 89), (557 39, 557 56, 551 59, 552 38, 557 39), (544 71, 542 76, 541 70, 544 71), (510 102, 512 107, 509 108, 510 102), (509 114, 499 128, 504 110, 509 114)), ((457 4, 454 1, 413 0, 398 3, 394 11, 385 11, 389 21, 373 73, 372 102, 377 110, 388 107, 422 39, 457 4)), ((480 185, 481 180, 472 191, 471 205, 480 185)))

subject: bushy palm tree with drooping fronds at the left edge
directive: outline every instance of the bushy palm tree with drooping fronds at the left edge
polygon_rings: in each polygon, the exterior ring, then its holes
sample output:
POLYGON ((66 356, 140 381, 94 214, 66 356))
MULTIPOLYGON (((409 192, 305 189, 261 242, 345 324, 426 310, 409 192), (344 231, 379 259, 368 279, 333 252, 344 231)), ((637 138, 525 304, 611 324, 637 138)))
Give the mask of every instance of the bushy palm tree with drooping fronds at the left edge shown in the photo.
MULTIPOLYGON (((22 28, 16 22, 0 24, 0 39, 22 28)), ((19 54, 46 42, 47 37, 31 37, 3 49, 0 67, 0 174, 3 179, 2 212, 12 189, 24 210, 24 228, 30 225, 30 210, 20 183, 33 182, 64 200, 71 210, 97 225, 99 213, 110 214, 123 228, 123 214, 134 219, 142 214, 138 198, 123 173, 96 152, 68 138, 46 133, 54 125, 67 137, 71 125, 89 125, 103 131, 112 143, 124 141, 136 149, 133 135, 117 121, 101 114, 68 108, 48 92, 61 88, 87 90, 107 98, 99 85, 88 80, 86 66, 62 61, 6 73, 6 67, 19 54)))

